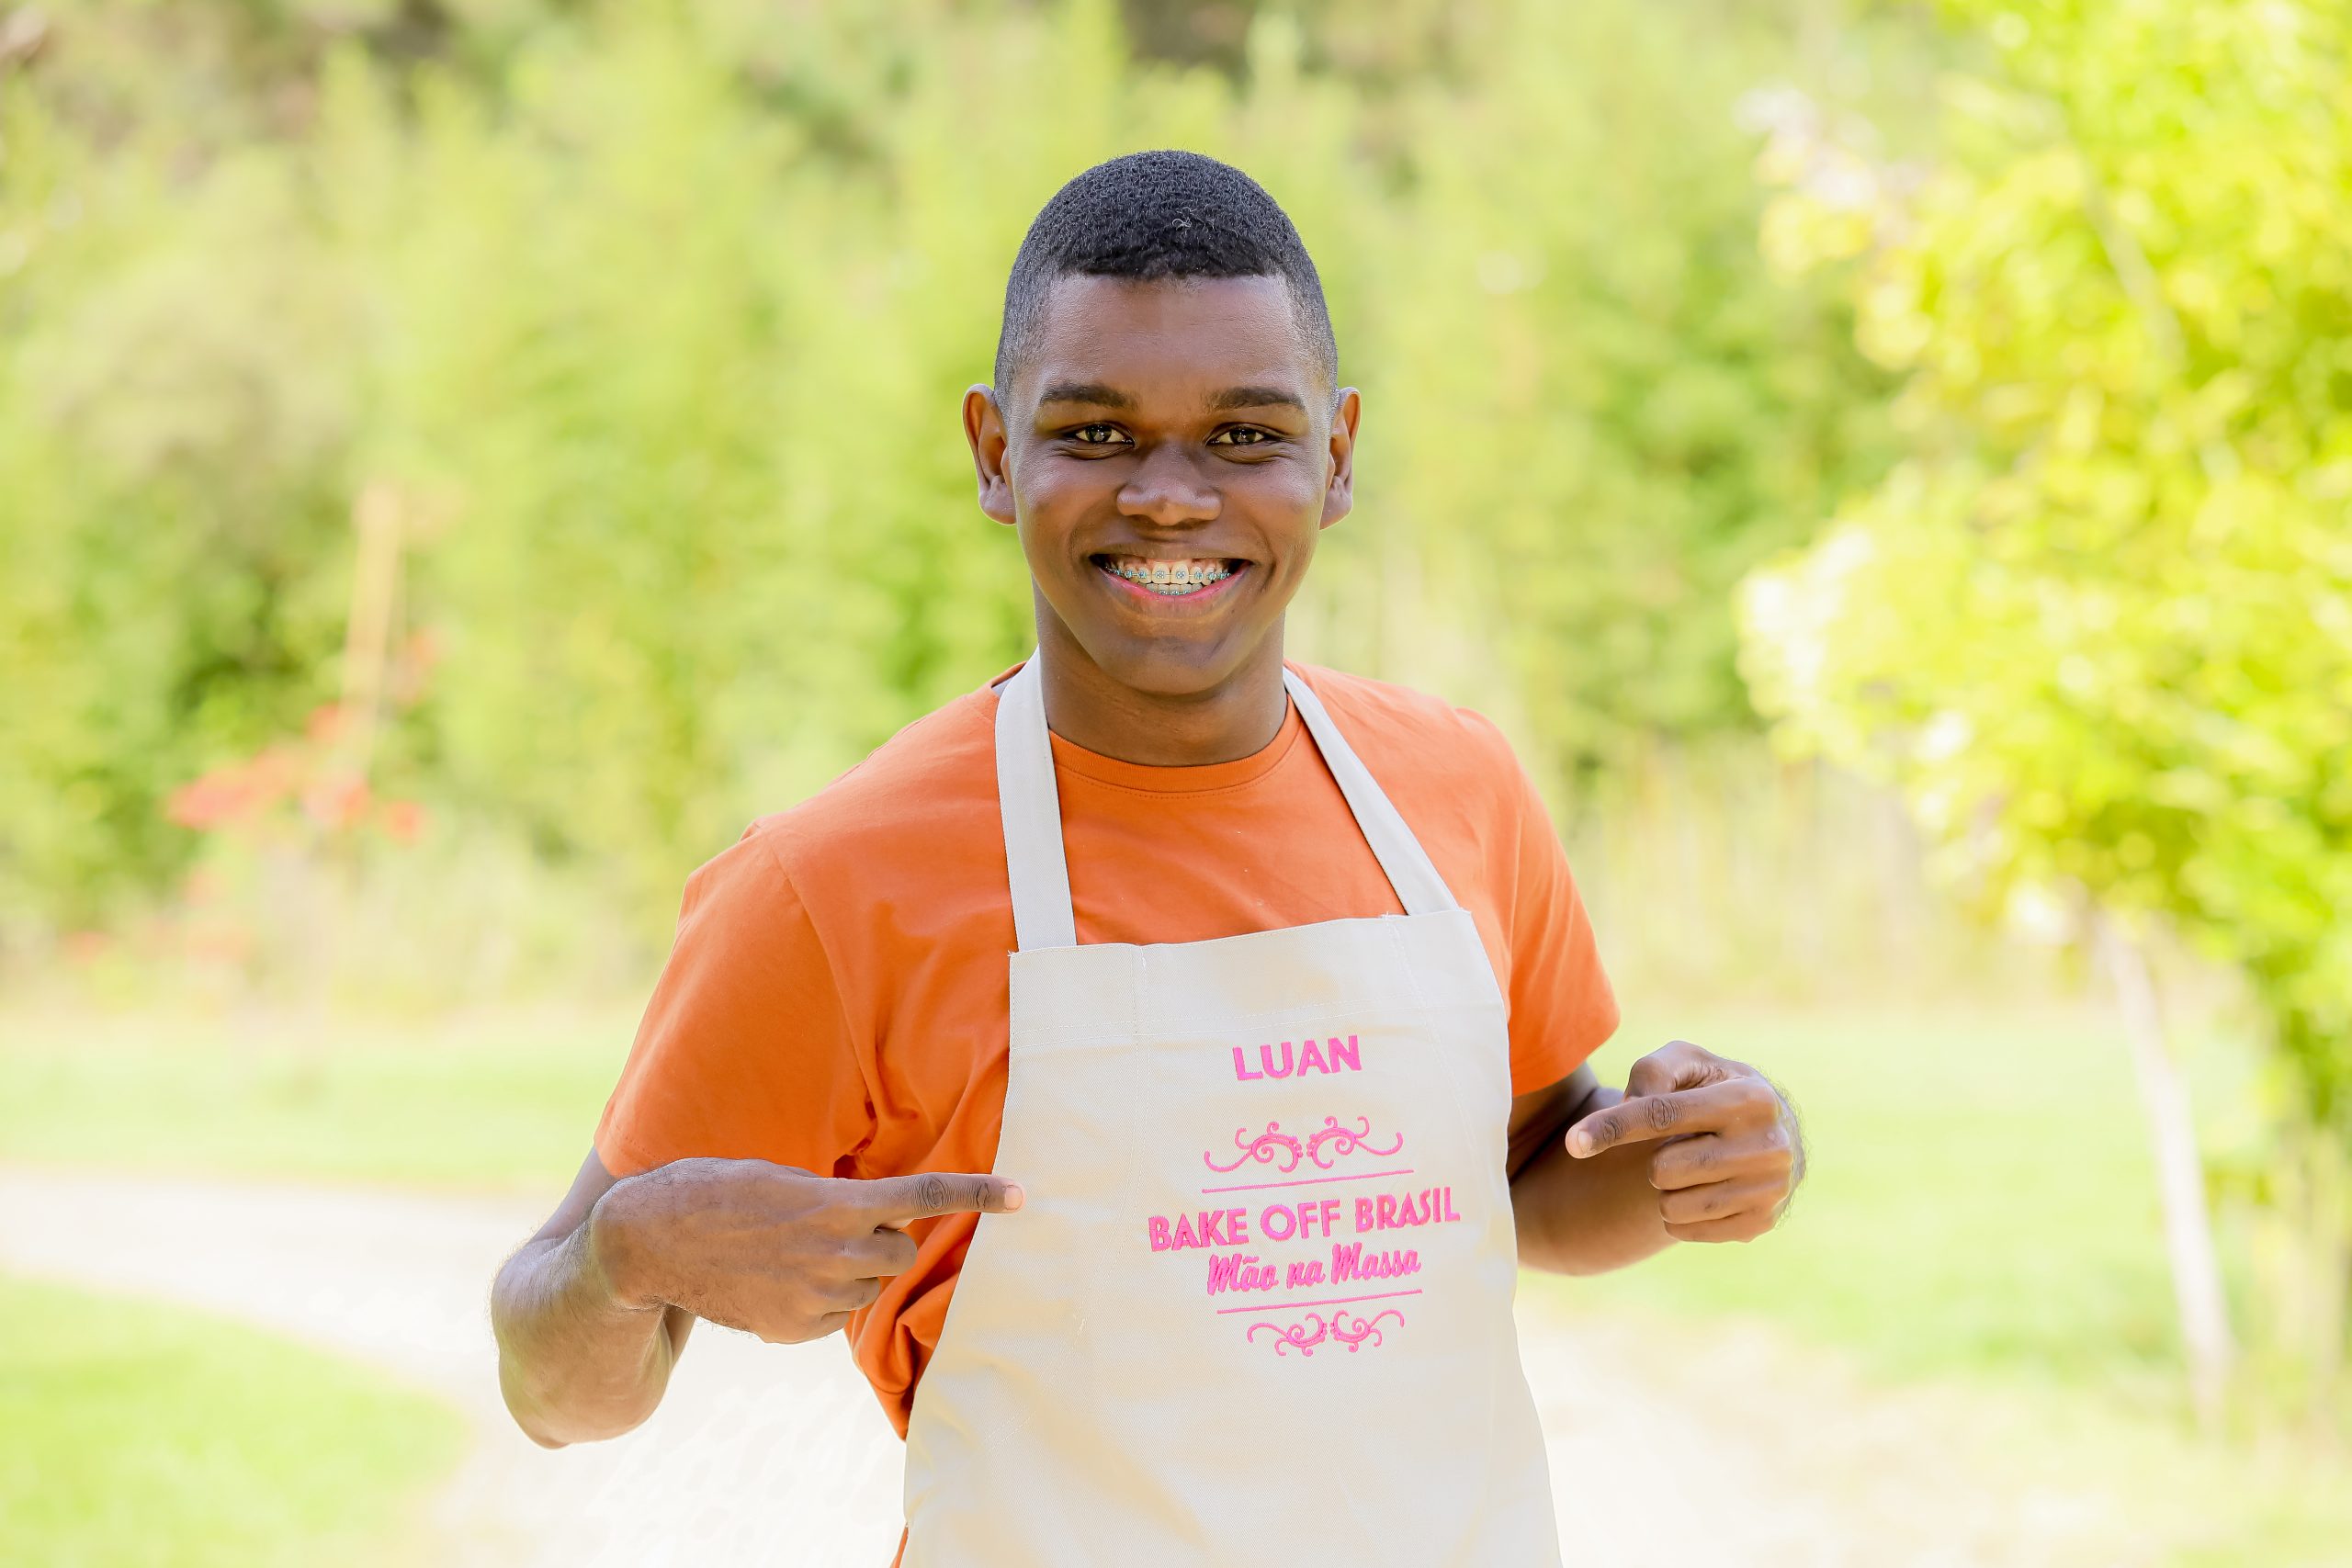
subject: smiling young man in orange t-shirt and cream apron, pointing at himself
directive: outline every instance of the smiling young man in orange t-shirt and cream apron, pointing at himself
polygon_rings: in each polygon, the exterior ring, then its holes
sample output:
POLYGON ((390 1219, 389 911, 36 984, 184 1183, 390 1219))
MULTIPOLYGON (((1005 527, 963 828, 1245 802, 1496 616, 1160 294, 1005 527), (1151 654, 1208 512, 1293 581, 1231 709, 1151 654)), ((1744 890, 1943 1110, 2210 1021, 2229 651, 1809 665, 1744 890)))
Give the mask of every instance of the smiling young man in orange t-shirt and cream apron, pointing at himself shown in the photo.
POLYGON ((1686 1041, 1595 1079, 1616 1004, 1486 719, 1284 661, 1357 414, 1249 176, 1047 205, 964 393, 1037 654, 689 879, 499 1274, 524 1432, 642 1422, 696 1316, 840 1328, 908 1568, 1559 1561, 1517 1265, 1752 1239, 1802 1152, 1686 1041))

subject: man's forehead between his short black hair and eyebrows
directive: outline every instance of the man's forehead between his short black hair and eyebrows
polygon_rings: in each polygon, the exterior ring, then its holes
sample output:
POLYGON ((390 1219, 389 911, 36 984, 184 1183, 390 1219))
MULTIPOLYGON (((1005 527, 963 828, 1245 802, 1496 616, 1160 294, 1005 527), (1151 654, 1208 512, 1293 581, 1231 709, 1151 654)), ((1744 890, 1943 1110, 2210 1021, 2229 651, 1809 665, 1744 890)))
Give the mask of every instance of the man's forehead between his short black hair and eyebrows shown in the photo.
POLYGON ((1218 400, 1279 390, 1301 404, 1312 357, 1279 277, 1061 277, 1044 301, 1021 378, 1040 400, 1218 400))

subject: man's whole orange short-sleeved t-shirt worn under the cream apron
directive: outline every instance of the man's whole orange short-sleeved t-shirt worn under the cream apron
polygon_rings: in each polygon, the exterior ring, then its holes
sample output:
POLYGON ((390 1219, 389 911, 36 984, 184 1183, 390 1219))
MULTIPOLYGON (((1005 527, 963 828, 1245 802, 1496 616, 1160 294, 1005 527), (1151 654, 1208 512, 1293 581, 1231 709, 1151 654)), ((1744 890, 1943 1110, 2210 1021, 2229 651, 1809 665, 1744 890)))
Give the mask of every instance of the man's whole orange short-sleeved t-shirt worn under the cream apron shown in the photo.
MULTIPOLYGON (((1618 1011, 1510 745, 1468 708, 1291 668, 1477 919, 1510 999, 1512 1093, 1564 1079, 1618 1011)), ((614 1175, 691 1154, 851 1178, 995 1166, 1014 950, 995 715, 990 686, 955 698, 687 879, 595 1131, 614 1175)), ((1080 943, 1402 912, 1296 705, 1237 762, 1160 769, 1051 745, 1080 943)), ((901 1436, 976 1225, 915 1222, 915 1267, 849 1321, 901 1436)))

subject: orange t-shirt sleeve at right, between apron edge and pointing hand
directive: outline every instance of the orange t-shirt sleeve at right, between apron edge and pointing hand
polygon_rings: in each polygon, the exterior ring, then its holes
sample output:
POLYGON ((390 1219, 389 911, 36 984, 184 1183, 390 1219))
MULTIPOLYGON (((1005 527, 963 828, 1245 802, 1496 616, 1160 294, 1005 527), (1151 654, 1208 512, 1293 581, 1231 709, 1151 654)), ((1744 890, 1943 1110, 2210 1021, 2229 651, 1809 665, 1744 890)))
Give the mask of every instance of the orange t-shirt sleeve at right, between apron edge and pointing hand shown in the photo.
POLYGON ((1618 1027, 1616 992, 1602 969, 1569 851, 1536 780, 1484 717, 1517 818, 1510 900, 1510 1091, 1548 1088, 1576 1072, 1618 1027))

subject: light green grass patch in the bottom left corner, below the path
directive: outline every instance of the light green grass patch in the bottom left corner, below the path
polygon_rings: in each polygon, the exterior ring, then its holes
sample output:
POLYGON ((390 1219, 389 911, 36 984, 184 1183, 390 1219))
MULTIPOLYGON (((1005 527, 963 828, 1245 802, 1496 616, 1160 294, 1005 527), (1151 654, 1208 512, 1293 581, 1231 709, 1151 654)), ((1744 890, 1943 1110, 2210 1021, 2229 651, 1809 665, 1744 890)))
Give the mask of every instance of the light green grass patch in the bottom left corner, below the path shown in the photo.
POLYGON ((463 1420, 200 1312, 0 1276, 0 1563, 386 1563, 463 1420))

